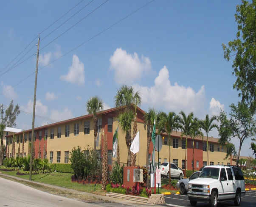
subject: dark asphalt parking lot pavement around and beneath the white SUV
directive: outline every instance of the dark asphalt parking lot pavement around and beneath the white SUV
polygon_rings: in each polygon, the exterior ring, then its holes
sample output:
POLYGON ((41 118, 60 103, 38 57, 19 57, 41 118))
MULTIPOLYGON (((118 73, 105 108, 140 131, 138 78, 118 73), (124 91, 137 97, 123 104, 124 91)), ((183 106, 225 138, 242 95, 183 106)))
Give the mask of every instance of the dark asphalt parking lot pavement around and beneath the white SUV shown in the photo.
MULTIPOLYGON (((165 196, 167 206, 172 207, 191 207, 188 196, 180 194, 171 194, 165 196)), ((198 202, 198 207, 209 207, 207 202, 198 202)), ((241 197, 241 207, 256 207, 256 190, 246 191, 245 196, 241 197)), ((235 207, 233 201, 221 202, 218 207, 235 207)))

